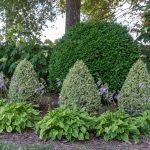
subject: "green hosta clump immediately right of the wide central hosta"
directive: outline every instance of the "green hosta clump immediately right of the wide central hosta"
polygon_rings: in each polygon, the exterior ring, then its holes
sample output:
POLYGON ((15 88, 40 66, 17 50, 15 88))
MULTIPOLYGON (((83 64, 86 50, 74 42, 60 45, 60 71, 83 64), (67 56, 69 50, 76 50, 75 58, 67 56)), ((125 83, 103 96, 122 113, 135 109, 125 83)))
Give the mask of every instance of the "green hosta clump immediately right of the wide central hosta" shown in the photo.
POLYGON ((105 112, 96 121, 97 136, 103 136, 105 141, 112 139, 127 142, 129 137, 138 142, 140 132, 133 118, 124 111, 105 112))

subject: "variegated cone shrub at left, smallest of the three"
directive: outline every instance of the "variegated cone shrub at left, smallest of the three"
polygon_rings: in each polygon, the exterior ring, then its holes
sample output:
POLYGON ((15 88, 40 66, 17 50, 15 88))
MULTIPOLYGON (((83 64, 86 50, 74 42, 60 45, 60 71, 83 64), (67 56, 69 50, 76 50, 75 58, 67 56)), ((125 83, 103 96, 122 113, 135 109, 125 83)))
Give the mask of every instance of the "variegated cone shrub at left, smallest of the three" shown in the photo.
POLYGON ((35 90, 38 87, 38 77, 32 64, 23 60, 12 76, 8 96, 11 100, 33 101, 36 99, 35 90))

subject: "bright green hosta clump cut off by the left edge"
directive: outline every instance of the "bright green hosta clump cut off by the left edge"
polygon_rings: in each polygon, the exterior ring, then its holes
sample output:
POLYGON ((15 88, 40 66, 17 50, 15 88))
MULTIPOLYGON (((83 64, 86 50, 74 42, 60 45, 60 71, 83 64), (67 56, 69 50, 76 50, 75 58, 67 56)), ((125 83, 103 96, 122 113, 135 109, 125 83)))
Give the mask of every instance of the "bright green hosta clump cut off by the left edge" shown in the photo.
POLYGON ((0 106, 0 132, 22 132, 27 128, 34 128, 39 121, 39 111, 25 102, 3 103, 0 106))

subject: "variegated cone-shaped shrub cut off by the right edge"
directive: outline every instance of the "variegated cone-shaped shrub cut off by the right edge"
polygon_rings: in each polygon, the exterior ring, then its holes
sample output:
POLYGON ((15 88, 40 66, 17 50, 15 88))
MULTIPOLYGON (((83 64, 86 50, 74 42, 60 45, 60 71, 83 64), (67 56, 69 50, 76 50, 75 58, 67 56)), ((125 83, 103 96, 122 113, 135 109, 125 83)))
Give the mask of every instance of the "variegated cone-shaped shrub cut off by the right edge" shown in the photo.
POLYGON ((150 74, 141 58, 130 69, 120 91, 119 107, 132 115, 150 109, 150 74))

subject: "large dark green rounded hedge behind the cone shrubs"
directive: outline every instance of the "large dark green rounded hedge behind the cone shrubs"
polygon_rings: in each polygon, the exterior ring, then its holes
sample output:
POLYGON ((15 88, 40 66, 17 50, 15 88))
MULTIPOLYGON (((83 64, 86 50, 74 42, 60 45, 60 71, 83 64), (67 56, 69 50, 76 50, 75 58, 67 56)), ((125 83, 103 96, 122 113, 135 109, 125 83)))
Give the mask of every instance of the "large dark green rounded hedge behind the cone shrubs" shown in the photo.
POLYGON ((138 46, 126 27, 113 22, 80 23, 57 43, 50 58, 50 89, 56 89, 69 68, 83 60, 94 79, 108 84, 110 90, 120 89, 129 69, 139 57, 138 46))

